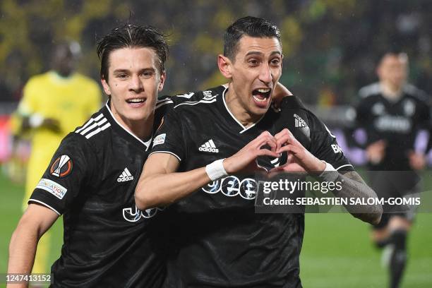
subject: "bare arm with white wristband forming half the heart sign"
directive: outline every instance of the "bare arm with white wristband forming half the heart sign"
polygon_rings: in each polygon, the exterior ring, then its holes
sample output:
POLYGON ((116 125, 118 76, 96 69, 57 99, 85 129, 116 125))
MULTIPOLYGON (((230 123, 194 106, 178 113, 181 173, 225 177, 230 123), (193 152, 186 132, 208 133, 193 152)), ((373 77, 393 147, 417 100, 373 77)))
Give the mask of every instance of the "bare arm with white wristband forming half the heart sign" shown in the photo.
POLYGON ((176 172, 180 161, 174 155, 155 152, 145 162, 138 181, 136 205, 140 210, 169 205, 222 176, 256 170, 258 166, 255 160, 258 156, 278 157, 275 152, 263 148, 265 145, 276 150, 275 139, 268 132, 261 133, 231 157, 188 172, 176 172))

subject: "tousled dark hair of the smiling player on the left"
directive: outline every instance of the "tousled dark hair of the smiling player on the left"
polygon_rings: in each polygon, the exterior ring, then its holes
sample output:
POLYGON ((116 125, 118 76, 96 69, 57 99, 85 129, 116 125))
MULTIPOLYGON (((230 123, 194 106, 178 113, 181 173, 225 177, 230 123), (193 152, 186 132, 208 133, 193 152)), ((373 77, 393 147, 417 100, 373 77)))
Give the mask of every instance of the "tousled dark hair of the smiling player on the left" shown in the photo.
POLYGON ((168 56, 168 44, 162 33, 151 26, 136 26, 126 24, 114 28, 97 43, 97 55, 100 58, 100 77, 108 80, 109 54, 122 48, 151 48, 155 50, 159 60, 159 70, 162 73, 168 56))

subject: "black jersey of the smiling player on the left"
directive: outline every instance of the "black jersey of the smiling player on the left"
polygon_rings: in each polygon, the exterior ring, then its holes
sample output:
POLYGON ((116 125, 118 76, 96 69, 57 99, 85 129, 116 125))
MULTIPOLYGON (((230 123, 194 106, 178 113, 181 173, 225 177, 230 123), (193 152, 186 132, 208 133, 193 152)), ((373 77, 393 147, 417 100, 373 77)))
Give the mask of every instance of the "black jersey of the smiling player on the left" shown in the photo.
MULTIPOLYGON (((188 98, 158 100, 154 131, 167 108, 188 98)), ((124 128, 107 103, 61 142, 29 200, 63 215, 53 287, 160 287, 162 210, 140 211, 134 200, 151 140, 124 128)))

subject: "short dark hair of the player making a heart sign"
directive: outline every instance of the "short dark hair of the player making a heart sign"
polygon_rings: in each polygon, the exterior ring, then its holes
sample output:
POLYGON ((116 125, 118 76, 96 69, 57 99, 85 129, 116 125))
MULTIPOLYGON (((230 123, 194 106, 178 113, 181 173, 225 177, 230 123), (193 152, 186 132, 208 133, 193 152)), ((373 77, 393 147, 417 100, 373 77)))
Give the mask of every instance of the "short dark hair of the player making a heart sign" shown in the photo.
POLYGON ((258 18, 253 16, 246 16, 236 20, 232 23, 224 35, 224 56, 234 60, 239 49, 239 40, 243 35, 250 37, 276 37, 280 42, 280 30, 275 24, 264 18, 258 18))

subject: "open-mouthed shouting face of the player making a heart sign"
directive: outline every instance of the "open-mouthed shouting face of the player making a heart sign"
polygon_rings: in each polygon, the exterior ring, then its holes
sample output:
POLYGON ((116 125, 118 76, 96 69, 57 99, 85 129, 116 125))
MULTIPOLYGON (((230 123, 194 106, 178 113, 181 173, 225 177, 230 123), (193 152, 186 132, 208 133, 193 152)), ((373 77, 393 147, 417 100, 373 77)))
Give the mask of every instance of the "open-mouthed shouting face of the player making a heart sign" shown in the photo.
POLYGON ((262 115, 282 75, 282 47, 275 37, 243 36, 232 63, 232 87, 246 112, 262 115))

